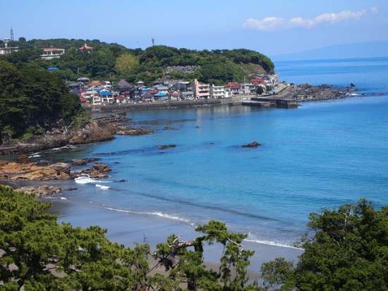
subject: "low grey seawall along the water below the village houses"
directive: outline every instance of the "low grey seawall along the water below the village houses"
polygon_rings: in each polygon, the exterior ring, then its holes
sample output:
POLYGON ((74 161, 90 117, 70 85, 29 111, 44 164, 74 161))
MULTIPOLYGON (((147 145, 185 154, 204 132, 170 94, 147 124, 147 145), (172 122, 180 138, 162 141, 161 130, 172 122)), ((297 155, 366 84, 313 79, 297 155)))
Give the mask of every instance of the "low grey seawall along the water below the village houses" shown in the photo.
POLYGON ((154 102, 133 102, 126 104, 90 105, 85 106, 86 112, 123 112, 151 109, 174 109, 195 106, 210 106, 222 104, 220 99, 198 99, 181 101, 154 101, 154 102))

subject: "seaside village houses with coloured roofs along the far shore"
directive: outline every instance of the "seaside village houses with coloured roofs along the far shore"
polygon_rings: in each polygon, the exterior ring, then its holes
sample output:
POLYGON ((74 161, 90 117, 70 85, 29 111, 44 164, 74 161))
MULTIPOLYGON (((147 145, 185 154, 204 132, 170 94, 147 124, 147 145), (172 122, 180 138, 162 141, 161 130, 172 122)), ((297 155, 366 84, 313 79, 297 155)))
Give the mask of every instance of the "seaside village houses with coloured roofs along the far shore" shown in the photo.
POLYGON ((261 86, 268 92, 278 85, 277 75, 252 75, 250 82, 229 82, 223 86, 202 84, 198 80, 190 82, 167 83, 162 80, 146 86, 144 82, 131 85, 121 79, 115 87, 109 81, 90 81, 89 78, 79 78, 77 82, 68 85, 71 92, 80 97, 84 105, 107 105, 130 102, 150 102, 165 100, 193 100, 210 98, 231 98, 254 95, 261 86))

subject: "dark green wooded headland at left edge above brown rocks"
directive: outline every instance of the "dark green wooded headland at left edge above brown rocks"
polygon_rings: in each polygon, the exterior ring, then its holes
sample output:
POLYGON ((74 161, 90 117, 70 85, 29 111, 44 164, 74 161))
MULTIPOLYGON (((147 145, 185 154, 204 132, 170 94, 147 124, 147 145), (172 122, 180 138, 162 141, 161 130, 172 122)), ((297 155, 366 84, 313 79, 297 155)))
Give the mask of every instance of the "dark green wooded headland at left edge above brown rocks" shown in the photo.
POLYGON ((0 131, 18 138, 58 120, 68 125, 81 112, 78 97, 56 75, 37 66, 0 61, 0 131))

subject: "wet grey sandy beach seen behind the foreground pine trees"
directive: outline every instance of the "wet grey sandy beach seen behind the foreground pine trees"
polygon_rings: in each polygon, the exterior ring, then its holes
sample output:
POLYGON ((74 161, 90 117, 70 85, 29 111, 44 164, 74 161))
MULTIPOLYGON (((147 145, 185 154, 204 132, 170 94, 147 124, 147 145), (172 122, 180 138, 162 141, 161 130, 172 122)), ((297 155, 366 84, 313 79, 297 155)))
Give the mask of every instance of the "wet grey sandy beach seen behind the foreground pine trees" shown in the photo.
MULTIPOLYGON (((99 225, 102 228, 107 228, 107 237, 110 240, 125 244, 127 247, 133 247, 135 243, 147 242, 154 250, 157 243, 165 242, 171 234, 181 234, 181 240, 192 240, 200 235, 200 233, 195 232, 194 228, 168 218, 114 211, 57 197, 42 200, 52 203, 49 213, 58 216, 59 223, 64 221, 83 228, 99 225)), ((257 242, 245 241, 243 245, 245 249, 255 250, 255 254, 250 260, 251 274, 258 274, 261 264, 266 261, 271 261, 279 256, 296 261, 297 256, 303 252, 301 249, 257 242)), ((205 245, 205 262, 217 264, 221 252, 220 245, 205 245)))

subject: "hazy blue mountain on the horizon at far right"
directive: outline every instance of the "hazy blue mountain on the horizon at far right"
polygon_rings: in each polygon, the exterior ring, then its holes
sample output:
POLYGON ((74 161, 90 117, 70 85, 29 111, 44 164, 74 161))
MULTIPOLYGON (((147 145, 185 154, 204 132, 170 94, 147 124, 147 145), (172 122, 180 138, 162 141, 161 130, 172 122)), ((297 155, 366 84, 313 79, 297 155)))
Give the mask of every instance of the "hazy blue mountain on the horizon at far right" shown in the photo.
POLYGON ((337 44, 295 54, 269 56, 272 61, 304 61, 332 58, 374 58, 388 56, 388 42, 360 42, 337 44))

